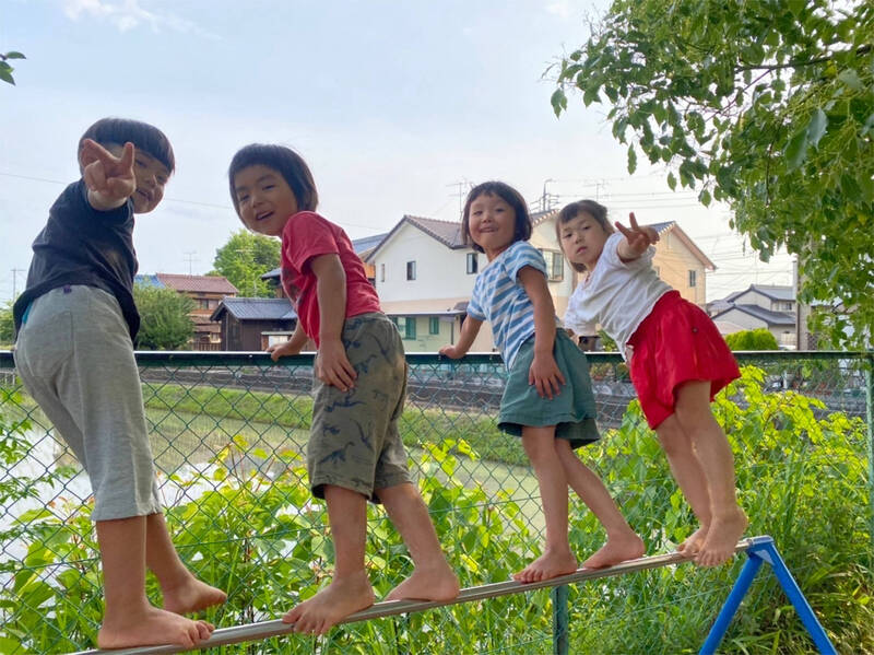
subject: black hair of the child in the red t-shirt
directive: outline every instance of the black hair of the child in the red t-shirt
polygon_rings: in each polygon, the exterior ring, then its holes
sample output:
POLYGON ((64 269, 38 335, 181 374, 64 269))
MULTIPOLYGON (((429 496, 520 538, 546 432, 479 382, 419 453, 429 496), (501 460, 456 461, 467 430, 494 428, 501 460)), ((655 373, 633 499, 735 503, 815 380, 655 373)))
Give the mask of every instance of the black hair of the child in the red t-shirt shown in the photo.
POLYGON ((298 209, 316 211, 316 207, 319 204, 319 192, 316 190, 312 173, 304 157, 285 145, 250 143, 237 151, 227 168, 231 201, 234 203, 237 214, 239 214, 239 202, 237 202, 237 194, 234 189, 234 177, 244 168, 258 165, 273 168, 282 175, 294 194, 298 209))

